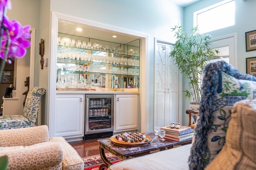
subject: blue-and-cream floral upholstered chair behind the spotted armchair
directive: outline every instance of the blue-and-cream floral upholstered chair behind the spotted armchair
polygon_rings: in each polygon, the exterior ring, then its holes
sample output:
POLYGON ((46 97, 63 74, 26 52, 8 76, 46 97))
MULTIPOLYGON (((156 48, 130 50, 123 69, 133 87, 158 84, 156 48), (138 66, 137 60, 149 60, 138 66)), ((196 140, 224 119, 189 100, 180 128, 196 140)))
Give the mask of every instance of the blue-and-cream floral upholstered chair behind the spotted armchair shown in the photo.
POLYGON ((29 90, 23 109, 24 114, 0 116, 0 130, 37 126, 39 106, 45 92, 42 87, 29 90))

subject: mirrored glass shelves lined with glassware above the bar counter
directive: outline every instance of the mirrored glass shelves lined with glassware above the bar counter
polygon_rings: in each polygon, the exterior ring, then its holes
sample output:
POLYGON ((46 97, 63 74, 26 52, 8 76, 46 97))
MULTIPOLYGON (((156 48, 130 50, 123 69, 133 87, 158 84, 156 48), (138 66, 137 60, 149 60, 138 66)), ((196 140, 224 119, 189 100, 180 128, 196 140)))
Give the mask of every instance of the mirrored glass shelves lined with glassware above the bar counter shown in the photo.
POLYGON ((140 39, 119 44, 62 33, 58 36, 57 90, 139 88, 140 39))

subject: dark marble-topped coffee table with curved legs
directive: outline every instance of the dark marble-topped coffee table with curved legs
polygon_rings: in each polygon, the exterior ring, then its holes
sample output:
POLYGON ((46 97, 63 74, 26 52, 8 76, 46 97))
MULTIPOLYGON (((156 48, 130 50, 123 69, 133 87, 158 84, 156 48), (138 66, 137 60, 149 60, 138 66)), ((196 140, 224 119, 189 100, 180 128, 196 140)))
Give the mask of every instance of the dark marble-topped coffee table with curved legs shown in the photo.
POLYGON ((143 156, 146 154, 151 154, 154 152, 159 152, 166 149, 172 149, 175 147, 180 147, 182 145, 187 145, 192 142, 192 139, 187 139, 185 141, 177 142, 165 139, 165 141, 159 140, 158 136, 154 134, 154 132, 143 133, 151 138, 151 142, 147 145, 143 145, 140 147, 122 147, 115 145, 109 138, 98 139, 99 147, 100 147, 100 156, 104 164, 100 166, 100 170, 104 170, 104 168, 108 168, 112 163, 108 160, 105 155, 105 150, 116 155, 121 160, 126 160, 130 158, 135 158, 138 156, 143 156))

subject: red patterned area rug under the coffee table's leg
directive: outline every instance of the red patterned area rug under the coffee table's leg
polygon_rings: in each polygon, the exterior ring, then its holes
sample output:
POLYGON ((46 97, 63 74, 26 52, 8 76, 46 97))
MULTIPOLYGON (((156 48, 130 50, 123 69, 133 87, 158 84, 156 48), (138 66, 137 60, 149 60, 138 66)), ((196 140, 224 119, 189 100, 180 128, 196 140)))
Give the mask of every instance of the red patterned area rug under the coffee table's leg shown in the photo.
MULTIPOLYGON (((108 158, 108 160, 110 160, 112 164, 121 161, 117 156, 114 156, 109 152, 106 153, 106 157, 108 158)), ((103 164, 103 161, 99 154, 94 156, 88 156, 82 159, 84 160, 84 170, 99 170, 100 165, 103 164)))

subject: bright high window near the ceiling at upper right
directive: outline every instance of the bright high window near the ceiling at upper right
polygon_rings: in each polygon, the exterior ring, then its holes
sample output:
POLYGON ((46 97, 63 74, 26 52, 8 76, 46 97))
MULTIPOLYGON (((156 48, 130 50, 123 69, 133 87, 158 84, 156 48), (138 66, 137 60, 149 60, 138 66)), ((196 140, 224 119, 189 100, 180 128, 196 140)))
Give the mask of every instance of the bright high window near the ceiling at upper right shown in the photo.
POLYGON ((194 12, 194 26, 196 25, 200 33, 235 25, 235 1, 224 0, 194 12))

